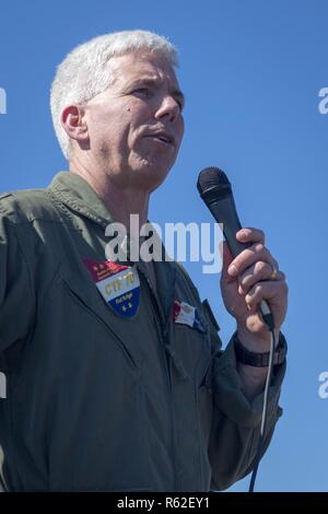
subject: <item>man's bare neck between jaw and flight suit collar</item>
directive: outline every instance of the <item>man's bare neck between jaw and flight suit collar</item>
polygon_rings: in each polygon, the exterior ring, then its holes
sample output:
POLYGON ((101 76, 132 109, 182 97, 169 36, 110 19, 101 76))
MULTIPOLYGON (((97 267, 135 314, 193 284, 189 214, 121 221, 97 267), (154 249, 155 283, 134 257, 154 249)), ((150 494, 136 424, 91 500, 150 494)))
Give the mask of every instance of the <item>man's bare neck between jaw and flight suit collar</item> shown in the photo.
POLYGON ((136 189, 132 185, 120 184, 117 176, 103 170, 90 170, 81 161, 70 161, 70 172, 80 175, 103 200, 113 221, 130 227, 130 214, 139 215, 139 226, 148 220, 150 192, 136 189))

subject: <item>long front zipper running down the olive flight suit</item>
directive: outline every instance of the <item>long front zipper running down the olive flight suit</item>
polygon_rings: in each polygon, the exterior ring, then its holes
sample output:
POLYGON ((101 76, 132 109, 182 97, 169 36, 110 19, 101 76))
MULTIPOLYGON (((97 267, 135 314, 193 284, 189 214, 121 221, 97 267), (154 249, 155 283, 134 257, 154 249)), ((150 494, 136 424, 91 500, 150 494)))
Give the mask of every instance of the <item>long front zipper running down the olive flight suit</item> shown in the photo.
POLYGON ((176 448, 177 448, 177 445, 176 445, 176 428, 175 428, 175 421, 174 421, 175 416, 174 416, 174 406, 173 406, 173 387, 172 387, 172 373, 171 373, 171 362, 172 362, 171 359, 172 358, 171 358, 169 353, 166 351, 166 346, 168 346, 168 343, 169 343, 169 338, 168 338, 169 318, 165 324, 165 319, 164 319, 163 314, 161 312, 161 308, 159 306, 159 302, 157 302, 156 294, 154 292, 153 285, 152 285, 150 279, 148 278, 148 276, 145 274, 145 272, 140 267, 138 267, 138 268, 141 272, 141 274, 145 278, 147 283, 148 283, 148 285, 151 290, 152 305, 153 305, 154 311, 155 311, 155 317, 160 322, 160 323, 156 323, 155 325, 156 325, 157 335, 160 337, 162 353, 163 353, 163 358, 164 358, 164 362, 165 362, 165 376, 166 376, 166 385, 167 385, 167 392, 168 392, 167 398, 168 398, 168 408, 169 408, 169 416, 171 416, 171 430, 172 430, 172 455, 173 455, 174 484, 175 484, 174 490, 179 491, 180 489, 178 487, 177 462, 176 462, 176 448))

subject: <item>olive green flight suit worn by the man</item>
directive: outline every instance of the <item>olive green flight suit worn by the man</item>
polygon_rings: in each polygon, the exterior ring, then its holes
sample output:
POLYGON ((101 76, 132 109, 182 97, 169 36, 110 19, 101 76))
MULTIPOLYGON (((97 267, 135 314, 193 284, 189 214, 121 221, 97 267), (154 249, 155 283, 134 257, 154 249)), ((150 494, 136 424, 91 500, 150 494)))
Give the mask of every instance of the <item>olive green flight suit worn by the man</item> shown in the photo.
MULTIPOLYGON (((5 487, 225 489, 251 469, 262 395, 245 397, 233 343, 220 349, 215 322, 176 262, 154 262, 157 294, 147 266, 136 265, 133 316, 105 302, 85 259, 106 260, 110 221, 71 172, 47 189, 0 198, 5 487), (176 301, 196 307, 198 327, 175 323, 176 301)), ((283 374, 284 365, 270 389, 266 445, 283 374)))

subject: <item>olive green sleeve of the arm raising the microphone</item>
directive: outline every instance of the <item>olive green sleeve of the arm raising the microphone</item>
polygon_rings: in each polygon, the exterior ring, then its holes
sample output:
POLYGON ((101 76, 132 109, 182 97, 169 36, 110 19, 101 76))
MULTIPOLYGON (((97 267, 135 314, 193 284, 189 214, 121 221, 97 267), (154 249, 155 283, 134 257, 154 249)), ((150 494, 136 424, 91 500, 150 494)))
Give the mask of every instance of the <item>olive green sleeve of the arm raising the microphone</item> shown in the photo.
MULTIPOLYGON (((212 490, 223 490, 253 469, 260 436, 263 394, 251 401, 243 392, 236 370, 233 340, 213 359, 213 418, 209 443, 212 490)), ((282 414, 278 401, 285 373, 285 363, 276 366, 269 389, 263 453, 269 446, 276 423, 282 414)))

